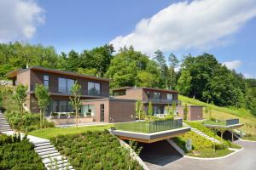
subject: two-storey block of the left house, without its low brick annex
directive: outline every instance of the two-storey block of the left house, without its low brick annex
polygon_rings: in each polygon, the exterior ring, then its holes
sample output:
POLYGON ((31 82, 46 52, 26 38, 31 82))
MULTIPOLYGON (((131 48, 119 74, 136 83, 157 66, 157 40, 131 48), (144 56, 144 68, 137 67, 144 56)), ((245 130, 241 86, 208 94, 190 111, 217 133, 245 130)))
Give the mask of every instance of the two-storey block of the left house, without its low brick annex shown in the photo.
POLYGON ((38 66, 27 69, 19 69, 6 74, 13 80, 13 85, 19 83, 28 87, 26 104, 27 111, 38 113, 37 100, 35 98, 36 84, 44 84, 49 89, 51 102, 46 109, 46 116, 52 112, 73 112, 69 104, 71 88, 77 81, 82 88, 81 99, 102 99, 109 97, 109 79, 81 75, 69 71, 59 71, 38 66))

